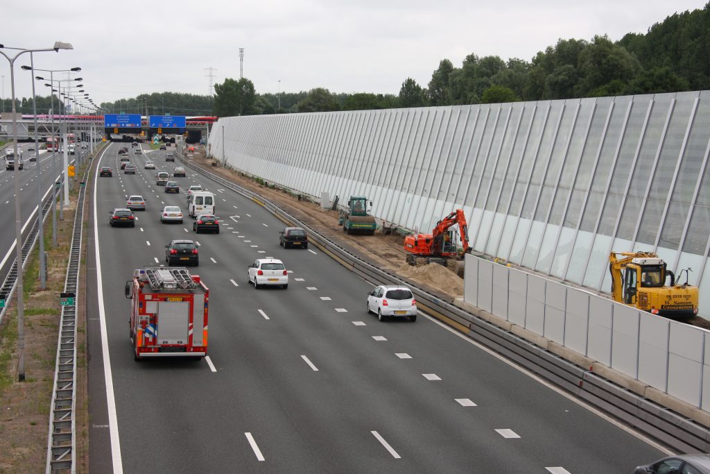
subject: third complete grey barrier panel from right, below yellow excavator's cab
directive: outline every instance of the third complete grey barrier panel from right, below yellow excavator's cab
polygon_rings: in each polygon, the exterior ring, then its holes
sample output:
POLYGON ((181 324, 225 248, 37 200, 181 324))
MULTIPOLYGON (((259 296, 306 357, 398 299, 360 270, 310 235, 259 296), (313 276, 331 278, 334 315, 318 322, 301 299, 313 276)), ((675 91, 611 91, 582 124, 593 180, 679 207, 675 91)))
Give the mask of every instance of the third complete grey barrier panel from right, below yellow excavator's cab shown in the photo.
POLYGON ((611 367, 638 378, 638 321, 640 311, 614 303, 611 333, 611 367))

